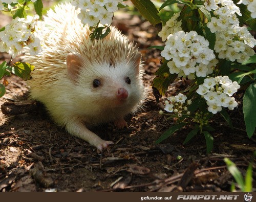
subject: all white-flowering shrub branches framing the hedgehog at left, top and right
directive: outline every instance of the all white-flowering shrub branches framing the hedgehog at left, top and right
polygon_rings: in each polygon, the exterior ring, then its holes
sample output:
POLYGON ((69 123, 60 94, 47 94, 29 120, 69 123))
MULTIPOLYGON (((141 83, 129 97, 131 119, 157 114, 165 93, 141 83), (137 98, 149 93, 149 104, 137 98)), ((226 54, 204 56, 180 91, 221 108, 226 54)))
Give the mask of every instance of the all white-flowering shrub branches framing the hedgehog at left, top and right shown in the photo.
MULTIPOLYGON (((163 110, 177 122, 162 134, 157 143, 192 124, 193 130, 187 134, 184 144, 196 134, 203 134, 207 152, 210 152, 213 148, 210 132, 214 128, 210 127, 209 120, 220 113, 233 127, 227 110, 239 106, 236 93, 241 86, 246 89, 243 95, 246 131, 249 138, 252 136, 256 126, 256 57, 253 50, 256 40, 249 30, 256 30, 256 0, 241 0, 238 4, 234 1, 166 0, 157 9, 151 1, 131 0, 152 25, 163 25, 159 36, 165 46, 157 47, 163 60, 153 87, 161 96, 176 79, 191 80, 185 92, 170 96, 164 102, 163 110), (161 20, 159 12, 177 3, 182 9, 167 20, 161 20)), ((72 4, 80 10, 78 18, 81 22, 90 26, 92 40, 105 37, 110 32, 113 12, 125 7, 122 0, 74 0, 72 4)), ((43 30, 37 24, 42 18, 42 7, 41 0, 0 1, 0 10, 13 14, 11 24, 0 30, 1 52, 15 57, 26 47, 31 55, 40 54, 44 45, 44 41, 39 40, 43 30), (26 13, 30 2, 37 14, 34 17, 26 13)), ((0 78, 11 72, 25 80, 30 79, 33 69, 34 66, 26 62, 12 66, 3 62, 0 78)), ((3 84, 7 83, 4 78, 3 84)), ((3 84, 0 84, 0 96, 5 93, 3 84)), ((165 114, 162 110, 160 113, 165 114)))

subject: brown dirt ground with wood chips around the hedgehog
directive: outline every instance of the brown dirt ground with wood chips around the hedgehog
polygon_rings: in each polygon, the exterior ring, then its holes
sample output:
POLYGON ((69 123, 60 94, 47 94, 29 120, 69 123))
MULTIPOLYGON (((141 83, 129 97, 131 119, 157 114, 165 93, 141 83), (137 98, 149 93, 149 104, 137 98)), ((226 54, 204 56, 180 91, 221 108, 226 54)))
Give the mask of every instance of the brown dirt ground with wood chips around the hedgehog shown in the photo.
MULTIPOLYGON (((0 19, 2 27, 9 18, 0 15, 0 19)), ((243 175, 252 162, 256 187, 256 141, 255 137, 248 139, 245 132, 243 92, 237 95, 239 107, 231 111, 235 129, 231 130, 221 116, 211 121, 216 129, 211 133, 212 153, 206 154, 202 135, 182 144, 190 127, 155 144, 175 124, 159 115, 152 93, 151 82, 161 57, 159 51, 148 47, 162 45, 157 37, 159 30, 128 13, 118 14, 114 24, 137 43, 145 61, 148 98, 144 109, 126 117, 129 128, 116 129, 110 123, 94 129, 102 139, 115 143, 103 152, 56 126, 40 104, 22 115, 0 112, 0 191, 230 191, 234 179, 223 161, 225 157, 236 163, 243 175)), ((9 59, 1 53, 1 61, 9 59)), ((1 105, 28 99, 25 81, 15 76, 7 80, 1 105)), ((178 81, 170 85, 168 93, 175 94, 184 85, 178 81)))

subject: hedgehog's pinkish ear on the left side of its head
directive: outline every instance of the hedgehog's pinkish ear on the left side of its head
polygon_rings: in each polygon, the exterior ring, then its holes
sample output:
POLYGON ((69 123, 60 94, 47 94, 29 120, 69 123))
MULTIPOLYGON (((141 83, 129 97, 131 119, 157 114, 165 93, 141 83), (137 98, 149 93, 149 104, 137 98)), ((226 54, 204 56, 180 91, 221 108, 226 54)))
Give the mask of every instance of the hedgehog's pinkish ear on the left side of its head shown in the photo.
POLYGON ((79 70, 82 66, 82 56, 80 54, 70 53, 67 55, 67 71, 69 77, 76 81, 79 70))

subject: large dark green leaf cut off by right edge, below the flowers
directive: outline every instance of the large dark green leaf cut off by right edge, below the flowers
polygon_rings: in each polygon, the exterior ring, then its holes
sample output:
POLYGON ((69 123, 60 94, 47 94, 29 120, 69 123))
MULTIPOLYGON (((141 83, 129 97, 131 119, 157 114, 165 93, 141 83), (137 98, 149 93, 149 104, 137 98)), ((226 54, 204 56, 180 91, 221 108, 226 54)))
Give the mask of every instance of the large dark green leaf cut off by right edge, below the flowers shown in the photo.
POLYGON ((243 98, 243 113, 247 136, 252 137, 256 127, 256 83, 252 83, 246 89, 243 98))

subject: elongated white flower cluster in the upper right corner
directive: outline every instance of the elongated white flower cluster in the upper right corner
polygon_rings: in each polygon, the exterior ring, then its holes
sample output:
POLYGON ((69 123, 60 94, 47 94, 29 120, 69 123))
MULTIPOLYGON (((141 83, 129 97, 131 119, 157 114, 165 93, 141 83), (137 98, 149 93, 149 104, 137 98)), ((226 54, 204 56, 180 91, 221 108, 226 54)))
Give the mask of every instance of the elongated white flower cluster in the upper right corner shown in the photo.
POLYGON ((256 39, 246 27, 239 26, 236 16, 236 13, 241 15, 239 7, 231 0, 207 0, 204 5, 209 11, 214 10, 215 17, 211 17, 207 27, 216 33, 215 51, 219 53, 218 57, 242 63, 254 55, 256 39))

